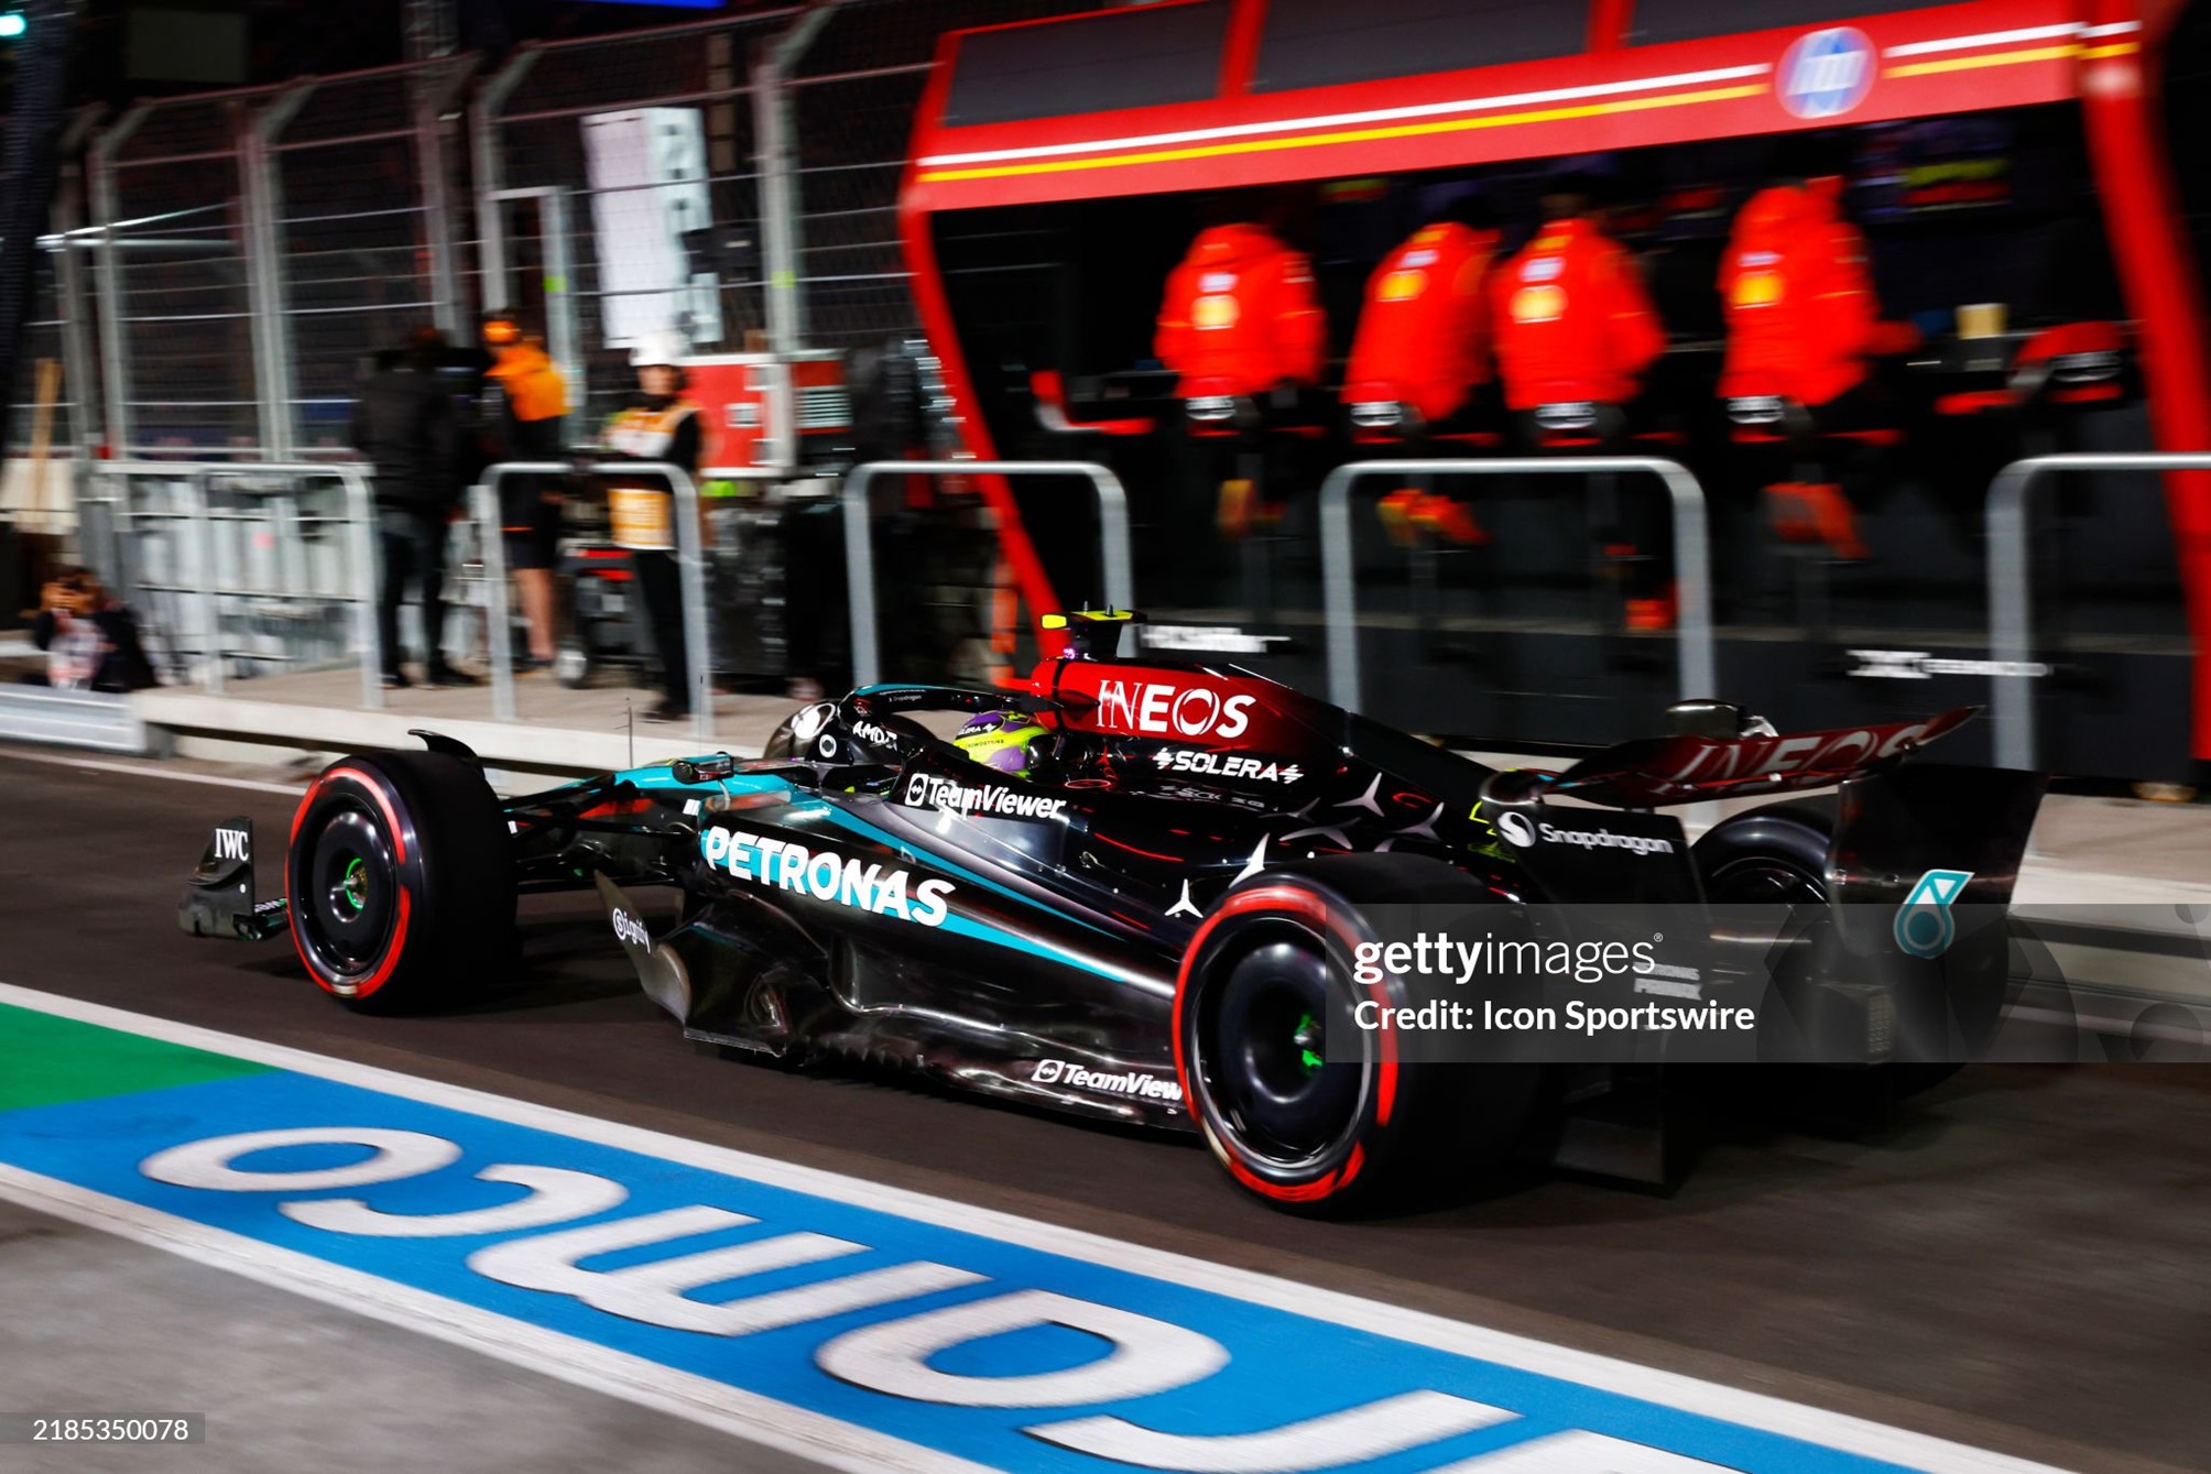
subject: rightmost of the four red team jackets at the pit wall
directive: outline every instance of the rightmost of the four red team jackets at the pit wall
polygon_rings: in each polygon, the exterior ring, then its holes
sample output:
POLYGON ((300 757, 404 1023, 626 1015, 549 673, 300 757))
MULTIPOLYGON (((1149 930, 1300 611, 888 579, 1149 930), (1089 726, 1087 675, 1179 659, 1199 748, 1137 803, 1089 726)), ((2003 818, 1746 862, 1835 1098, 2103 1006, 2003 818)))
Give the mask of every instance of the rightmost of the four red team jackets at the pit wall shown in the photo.
POLYGON ((1866 239, 1842 219, 1833 181, 1760 190, 1720 259, 1727 365, 1720 396, 1775 393, 1826 404, 1866 378, 1884 338, 1866 239))

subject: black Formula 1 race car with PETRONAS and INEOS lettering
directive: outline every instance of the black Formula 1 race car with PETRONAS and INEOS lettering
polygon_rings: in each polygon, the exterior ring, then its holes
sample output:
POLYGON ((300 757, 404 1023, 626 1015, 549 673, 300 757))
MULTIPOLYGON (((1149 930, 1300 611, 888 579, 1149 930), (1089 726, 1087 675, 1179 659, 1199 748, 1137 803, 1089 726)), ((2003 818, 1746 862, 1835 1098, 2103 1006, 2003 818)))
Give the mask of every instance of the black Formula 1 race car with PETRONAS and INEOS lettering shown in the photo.
MULTIPOLYGON (((1386 1025, 1437 983, 1344 959, 1377 957, 1406 915, 1479 906, 1457 915, 1517 935, 1557 926, 1543 908, 1594 902, 1873 902, 1904 946, 1928 877, 1952 877, 1941 908, 2003 910, 2041 798, 2027 773, 1910 760, 1972 712, 1780 736, 1740 707, 1680 703, 1674 736, 1563 773, 1499 771, 1245 670, 1123 661, 1110 650, 1134 619, 1046 617, 1068 647, 1019 692, 873 685, 803 707, 754 760, 509 800, 462 745, 418 734, 429 751, 316 778, 283 899, 254 899, 250 827, 217 827, 179 924, 285 928, 343 1003, 425 1008, 511 964, 517 893, 595 886, 643 990, 692 1039, 1196 1129, 1245 1189, 1318 1211, 1530 1143, 1665 1178, 1663 1123, 1623 1109, 1663 1063, 1649 1050, 1464 1063, 1386 1025), (953 720, 1021 740, 977 760, 937 734, 953 720), (1694 846, 1660 813, 1835 785, 1725 818, 1694 846), (628 886, 679 888, 679 922, 654 935, 628 886)), ((1948 910, 1935 922, 1948 928, 1948 910)), ((1634 988, 1698 997, 1725 992, 1722 975, 1656 966, 1634 988)), ((1981 1003, 1948 999, 1941 1043, 1915 1056, 1926 1010, 1910 992, 1857 975, 1824 988, 1855 1010, 1859 1078, 1939 1067, 1961 1028, 1988 1023, 1981 1003)))

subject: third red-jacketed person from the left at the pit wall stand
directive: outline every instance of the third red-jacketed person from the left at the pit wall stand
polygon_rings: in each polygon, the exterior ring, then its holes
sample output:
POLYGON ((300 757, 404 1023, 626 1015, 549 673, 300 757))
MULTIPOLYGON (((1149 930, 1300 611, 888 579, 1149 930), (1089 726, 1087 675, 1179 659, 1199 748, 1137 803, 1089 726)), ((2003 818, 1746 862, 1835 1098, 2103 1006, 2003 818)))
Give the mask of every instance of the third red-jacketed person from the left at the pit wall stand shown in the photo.
MULTIPOLYGON (((1665 327, 1625 245, 1605 232, 1596 181, 1559 175, 1543 190, 1543 225, 1490 276, 1497 373, 1506 407, 1528 435, 1603 451, 1625 431, 1625 407, 1665 351, 1665 327)), ((1627 502, 1627 526, 1603 541, 1627 557, 1630 630, 1674 623, 1672 572, 1658 504, 1627 502), (1641 555, 1638 555, 1641 550, 1641 555)))

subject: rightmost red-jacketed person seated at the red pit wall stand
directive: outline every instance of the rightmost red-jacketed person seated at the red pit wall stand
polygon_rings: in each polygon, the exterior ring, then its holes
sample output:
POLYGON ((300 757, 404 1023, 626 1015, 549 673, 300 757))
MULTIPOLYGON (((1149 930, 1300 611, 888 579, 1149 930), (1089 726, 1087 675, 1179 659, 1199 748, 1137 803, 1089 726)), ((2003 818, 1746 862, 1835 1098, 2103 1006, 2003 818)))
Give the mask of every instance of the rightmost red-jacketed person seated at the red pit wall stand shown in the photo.
MULTIPOLYGON (((1736 214, 1718 283, 1722 400, 1780 400, 1820 429, 1855 429, 1873 398, 1873 358, 1910 347, 1908 327, 1882 320, 1866 239, 1842 214, 1842 183, 1820 168, 1791 170, 1736 214)), ((1784 537, 1866 557, 1835 482, 1778 482, 1767 495, 1784 537)))

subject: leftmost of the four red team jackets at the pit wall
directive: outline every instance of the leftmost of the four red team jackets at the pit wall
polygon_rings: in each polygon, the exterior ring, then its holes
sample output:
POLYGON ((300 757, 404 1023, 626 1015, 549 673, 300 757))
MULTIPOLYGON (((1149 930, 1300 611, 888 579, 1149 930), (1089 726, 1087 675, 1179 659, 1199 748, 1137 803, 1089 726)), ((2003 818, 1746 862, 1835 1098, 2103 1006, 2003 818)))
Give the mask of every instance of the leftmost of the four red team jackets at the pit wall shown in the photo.
POLYGON ((1265 393, 1318 385, 1327 340, 1307 259, 1265 225, 1214 225, 1167 276, 1154 351, 1185 398, 1265 393))

